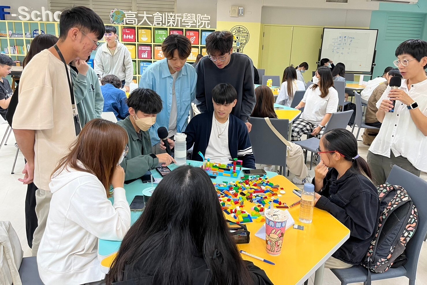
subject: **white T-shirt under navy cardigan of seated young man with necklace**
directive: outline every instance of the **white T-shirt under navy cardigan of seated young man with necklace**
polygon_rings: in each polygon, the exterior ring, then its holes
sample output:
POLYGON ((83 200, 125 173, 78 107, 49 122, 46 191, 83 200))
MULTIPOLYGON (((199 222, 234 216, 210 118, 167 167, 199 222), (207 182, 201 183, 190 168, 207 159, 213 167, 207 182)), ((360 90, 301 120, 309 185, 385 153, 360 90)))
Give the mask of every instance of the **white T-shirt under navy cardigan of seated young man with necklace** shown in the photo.
POLYGON ((230 118, 225 123, 219 123, 215 118, 215 114, 213 114, 211 136, 208 147, 206 147, 205 159, 222 164, 230 163, 231 154, 228 149, 229 121, 230 118))

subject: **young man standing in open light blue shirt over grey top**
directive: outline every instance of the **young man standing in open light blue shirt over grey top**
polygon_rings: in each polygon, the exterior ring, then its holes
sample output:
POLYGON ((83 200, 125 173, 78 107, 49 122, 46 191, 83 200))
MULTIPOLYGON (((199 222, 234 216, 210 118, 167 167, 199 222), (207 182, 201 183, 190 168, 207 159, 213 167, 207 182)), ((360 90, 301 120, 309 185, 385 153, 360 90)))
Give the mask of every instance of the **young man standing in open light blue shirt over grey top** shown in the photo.
POLYGON ((155 62, 143 72, 140 88, 149 88, 160 95, 163 109, 150 128, 153 153, 164 153, 160 148, 157 129, 164 126, 168 137, 184 132, 188 124, 191 102, 195 100, 197 74, 188 63, 191 42, 183 35, 169 35, 162 44, 165 59, 155 62))

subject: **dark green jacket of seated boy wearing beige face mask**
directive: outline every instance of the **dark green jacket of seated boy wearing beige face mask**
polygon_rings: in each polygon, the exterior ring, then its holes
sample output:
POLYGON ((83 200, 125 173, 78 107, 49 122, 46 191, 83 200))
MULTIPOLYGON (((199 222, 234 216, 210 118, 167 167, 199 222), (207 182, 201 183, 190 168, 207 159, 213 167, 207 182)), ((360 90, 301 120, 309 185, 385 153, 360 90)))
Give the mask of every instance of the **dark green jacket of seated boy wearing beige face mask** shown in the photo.
POLYGON ((159 159, 152 153, 150 133, 140 131, 142 138, 140 140, 129 116, 118 121, 117 124, 126 129, 129 136, 129 152, 120 164, 125 170, 125 180, 140 178, 159 164, 159 159))

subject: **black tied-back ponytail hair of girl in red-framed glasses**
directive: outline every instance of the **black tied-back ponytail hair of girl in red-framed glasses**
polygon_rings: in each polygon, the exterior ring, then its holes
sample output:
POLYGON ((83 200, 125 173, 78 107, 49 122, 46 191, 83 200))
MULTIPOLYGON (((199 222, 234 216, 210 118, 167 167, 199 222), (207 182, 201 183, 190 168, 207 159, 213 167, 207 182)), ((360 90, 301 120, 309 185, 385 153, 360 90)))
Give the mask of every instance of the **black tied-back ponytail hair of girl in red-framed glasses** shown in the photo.
POLYGON ((346 129, 331 129, 323 134, 322 139, 326 151, 336 151, 345 160, 353 162, 351 168, 372 181, 371 168, 366 160, 359 156, 357 140, 350 131, 346 129))

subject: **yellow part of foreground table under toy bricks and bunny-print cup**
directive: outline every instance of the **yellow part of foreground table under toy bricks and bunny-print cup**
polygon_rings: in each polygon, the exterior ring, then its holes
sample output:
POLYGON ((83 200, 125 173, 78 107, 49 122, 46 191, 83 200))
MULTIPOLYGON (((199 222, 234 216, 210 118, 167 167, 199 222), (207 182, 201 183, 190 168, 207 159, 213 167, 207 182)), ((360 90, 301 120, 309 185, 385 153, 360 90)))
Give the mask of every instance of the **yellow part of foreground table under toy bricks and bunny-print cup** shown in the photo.
MULTIPOLYGON (((300 199, 292 193, 292 190, 297 187, 284 176, 277 175, 270 178, 269 181, 284 188, 286 194, 279 199, 288 206, 300 199)), ((249 201, 245 202, 246 209, 249 210, 253 206, 254 204, 249 201)), ((310 224, 298 221, 299 206, 290 208, 289 212, 296 224, 304 226, 304 230, 287 229, 279 256, 270 256, 265 250, 265 241, 255 236, 263 223, 246 223, 251 232, 251 240, 249 244, 238 245, 240 250, 272 261, 276 265, 267 264, 245 255, 242 257, 262 268, 275 285, 303 284, 315 272, 315 284, 322 284, 325 261, 348 239, 350 231, 328 212, 317 208, 314 209, 313 223, 310 224)), ((101 261, 102 267, 108 270, 115 256, 115 253, 104 256, 101 261)))

